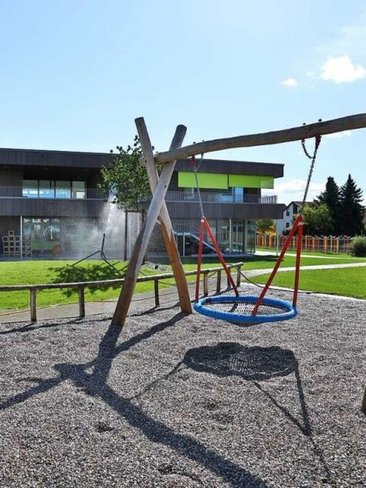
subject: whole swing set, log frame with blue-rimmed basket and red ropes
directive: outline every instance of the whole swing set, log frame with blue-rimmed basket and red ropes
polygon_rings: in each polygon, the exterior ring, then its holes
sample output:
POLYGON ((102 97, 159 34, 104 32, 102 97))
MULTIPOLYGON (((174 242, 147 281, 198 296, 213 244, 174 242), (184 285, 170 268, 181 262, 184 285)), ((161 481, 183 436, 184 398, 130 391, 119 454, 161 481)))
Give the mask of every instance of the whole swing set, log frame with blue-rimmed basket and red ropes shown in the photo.
MULTIPOLYGON (((144 255, 147 251, 148 243, 156 222, 159 222, 161 226, 166 251, 175 277, 181 311, 186 314, 190 314, 193 312, 188 292, 187 280, 184 274, 182 262, 174 238, 173 227, 165 203, 165 195, 168 190, 168 186, 175 168, 175 163, 178 159, 192 158, 198 154, 206 154, 223 149, 262 146, 291 141, 302 141, 305 154, 307 154, 307 156, 312 160, 304 194, 305 202, 321 136, 325 134, 342 132, 345 130, 365 128, 366 114, 351 115, 338 119, 328 120, 325 122, 318 121, 313 124, 302 125, 300 127, 294 127, 279 131, 243 135, 225 139, 215 139, 212 141, 204 141, 189 146, 182 146, 187 129, 185 126, 179 125, 176 128, 169 151, 157 153, 155 155, 153 153, 153 148, 144 119, 140 117, 135 120, 135 123, 141 143, 141 148, 143 151, 143 159, 141 163, 144 164, 146 167, 153 196, 149 209, 147 211, 145 222, 141 227, 140 233, 136 239, 131 259, 127 268, 126 278, 122 286, 121 293, 112 318, 112 325, 118 325, 120 327, 122 327, 125 323, 131 304, 133 291, 136 285, 137 276, 143 263, 144 255), (308 154, 305 148, 305 140, 311 138, 315 138, 315 150, 313 155, 308 154), (160 176, 157 172, 157 165, 162 166, 160 176)), ((235 283, 231 278, 230 271, 228 270, 225 261, 222 258, 221 252, 217 246, 209 223, 204 217, 201 202, 200 251, 197 267, 195 310, 210 317, 222 318, 230 322, 241 323, 244 325, 249 325, 251 323, 287 320, 295 317, 298 312, 297 295, 300 273, 302 223, 303 217, 300 212, 285 241, 276 265, 259 297, 239 296, 237 287, 235 286, 235 283), (228 280, 234 290, 235 296, 217 296, 210 298, 206 297, 202 300, 199 300, 199 275, 201 272, 202 243, 204 231, 208 233, 214 247, 216 246, 215 249, 217 255, 219 256, 221 264, 225 272, 227 273, 228 280), (287 248, 290 244, 290 240, 296 232, 298 234, 298 246, 296 253, 295 284, 292 303, 284 300, 267 298, 265 296, 267 290, 271 285, 275 274, 277 273, 282 258, 285 255, 287 248), (224 309, 224 305, 227 307, 226 310, 224 309)))

